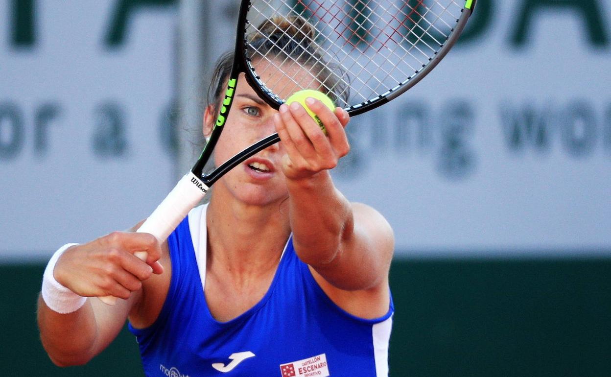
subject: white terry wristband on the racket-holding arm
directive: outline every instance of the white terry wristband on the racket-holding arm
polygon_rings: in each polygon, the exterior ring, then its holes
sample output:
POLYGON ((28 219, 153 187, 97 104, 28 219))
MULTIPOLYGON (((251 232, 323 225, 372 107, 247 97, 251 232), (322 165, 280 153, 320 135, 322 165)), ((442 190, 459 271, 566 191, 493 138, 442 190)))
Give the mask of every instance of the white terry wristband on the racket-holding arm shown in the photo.
POLYGON ((55 269, 55 263, 59 257, 68 249, 70 246, 78 245, 77 243, 68 243, 60 247, 49 263, 46 265, 45 274, 42 277, 42 299, 45 300, 46 306, 54 312, 66 314, 76 312, 81 306, 87 301, 86 297, 82 297, 59 284, 53 276, 53 270, 55 269))

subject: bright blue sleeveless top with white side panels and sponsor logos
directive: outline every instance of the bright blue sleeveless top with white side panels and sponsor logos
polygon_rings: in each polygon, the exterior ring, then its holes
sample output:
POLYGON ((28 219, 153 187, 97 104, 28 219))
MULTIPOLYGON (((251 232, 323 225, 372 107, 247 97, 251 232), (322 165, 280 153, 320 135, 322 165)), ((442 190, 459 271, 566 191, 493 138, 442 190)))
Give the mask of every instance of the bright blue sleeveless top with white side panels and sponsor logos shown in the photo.
POLYGON ((163 309, 148 328, 129 325, 148 377, 388 375, 392 299, 375 320, 345 312, 289 240, 263 299, 219 322, 203 294, 188 218, 167 241, 172 277, 163 309))

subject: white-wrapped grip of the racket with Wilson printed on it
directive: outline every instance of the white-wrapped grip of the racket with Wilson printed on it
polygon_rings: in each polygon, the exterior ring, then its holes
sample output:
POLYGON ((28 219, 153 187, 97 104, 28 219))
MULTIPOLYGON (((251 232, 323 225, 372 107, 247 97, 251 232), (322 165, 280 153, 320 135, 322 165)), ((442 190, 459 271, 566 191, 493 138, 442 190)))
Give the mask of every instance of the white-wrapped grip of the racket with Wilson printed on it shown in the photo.
MULTIPOLYGON (((206 192, 208 192, 208 186, 204 185, 195 174, 189 172, 178 181, 172 191, 167 194, 166 199, 155 208, 155 211, 148 216, 136 232, 151 233, 159 240, 159 243, 163 243, 189 211, 202 200, 206 192)), ((134 252, 134 255, 144 261, 148 256, 145 251, 134 252)), ((114 305, 117 302, 114 296, 100 297, 100 300, 108 305, 114 305)))

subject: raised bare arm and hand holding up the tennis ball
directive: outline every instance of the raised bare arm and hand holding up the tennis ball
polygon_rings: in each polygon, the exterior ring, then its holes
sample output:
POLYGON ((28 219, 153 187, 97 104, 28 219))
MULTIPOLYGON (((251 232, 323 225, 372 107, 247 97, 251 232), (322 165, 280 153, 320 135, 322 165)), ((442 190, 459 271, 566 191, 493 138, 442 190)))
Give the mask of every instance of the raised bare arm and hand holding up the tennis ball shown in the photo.
POLYGON ((283 105, 274 119, 287 150, 283 170, 295 250, 336 303, 360 296, 354 301, 380 303, 378 310, 360 314, 384 313, 389 301, 392 229, 373 208, 349 203, 331 180, 329 169, 349 151, 343 129, 348 114, 340 108, 331 112, 317 100, 308 106, 326 126, 327 136, 300 105, 283 105))

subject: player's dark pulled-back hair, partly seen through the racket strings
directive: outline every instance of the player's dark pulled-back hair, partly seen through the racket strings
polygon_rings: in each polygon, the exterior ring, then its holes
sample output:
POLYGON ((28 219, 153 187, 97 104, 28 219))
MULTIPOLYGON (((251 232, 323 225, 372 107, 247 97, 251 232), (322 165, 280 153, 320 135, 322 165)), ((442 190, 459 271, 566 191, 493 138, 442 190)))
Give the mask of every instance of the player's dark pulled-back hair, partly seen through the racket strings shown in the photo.
MULTIPOLYGON (((314 43, 316 29, 300 16, 273 17, 264 21, 254 32, 246 35, 246 56, 251 60, 270 59, 269 56, 290 57, 300 65, 310 67, 321 84, 320 90, 335 103, 347 102, 348 89, 342 80, 343 70, 329 67, 314 43)), ((207 105, 218 114, 219 105, 233 64, 233 51, 223 54, 214 67, 207 105)))

